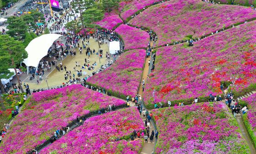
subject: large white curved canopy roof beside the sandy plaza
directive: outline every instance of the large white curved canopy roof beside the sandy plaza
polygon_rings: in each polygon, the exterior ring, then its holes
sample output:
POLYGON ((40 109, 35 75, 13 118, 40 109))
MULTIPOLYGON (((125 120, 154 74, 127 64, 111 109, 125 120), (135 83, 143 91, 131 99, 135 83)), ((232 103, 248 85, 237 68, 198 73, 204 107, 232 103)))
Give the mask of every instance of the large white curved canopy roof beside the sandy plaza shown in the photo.
POLYGON ((40 60, 47 55, 49 48, 53 42, 57 40, 59 34, 44 34, 32 40, 25 50, 27 51, 27 58, 23 61, 26 66, 37 67, 40 60))

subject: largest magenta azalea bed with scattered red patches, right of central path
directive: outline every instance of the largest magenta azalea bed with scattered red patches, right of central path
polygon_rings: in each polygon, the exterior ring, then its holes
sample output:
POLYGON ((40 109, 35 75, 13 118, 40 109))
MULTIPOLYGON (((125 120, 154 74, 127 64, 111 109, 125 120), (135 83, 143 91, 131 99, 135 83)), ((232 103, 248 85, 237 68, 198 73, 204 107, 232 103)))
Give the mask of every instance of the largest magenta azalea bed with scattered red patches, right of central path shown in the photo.
POLYGON ((145 87, 146 104, 222 94, 221 82, 235 80, 239 93, 256 84, 256 21, 194 43, 156 49, 155 71, 145 87), (232 79, 230 79, 232 78, 232 79))

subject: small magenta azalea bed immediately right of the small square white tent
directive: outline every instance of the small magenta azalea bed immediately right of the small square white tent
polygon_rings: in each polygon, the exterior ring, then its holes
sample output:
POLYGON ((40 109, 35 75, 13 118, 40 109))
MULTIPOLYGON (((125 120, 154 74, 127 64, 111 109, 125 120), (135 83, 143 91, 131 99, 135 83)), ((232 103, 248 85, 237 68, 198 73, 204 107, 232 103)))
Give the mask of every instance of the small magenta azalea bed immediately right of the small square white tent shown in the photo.
POLYGON ((149 43, 149 34, 128 25, 120 25, 115 30, 124 41, 124 50, 147 48, 149 43))

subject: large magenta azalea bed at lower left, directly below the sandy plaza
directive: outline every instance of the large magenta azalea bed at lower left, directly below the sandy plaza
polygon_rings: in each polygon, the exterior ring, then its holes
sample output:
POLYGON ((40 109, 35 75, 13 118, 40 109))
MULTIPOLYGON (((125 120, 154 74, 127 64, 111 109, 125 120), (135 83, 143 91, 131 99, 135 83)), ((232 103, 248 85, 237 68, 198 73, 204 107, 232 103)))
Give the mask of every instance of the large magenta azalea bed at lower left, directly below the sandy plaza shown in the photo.
POLYGON ((108 104, 117 106, 125 102, 78 84, 34 93, 2 140, 0 153, 26 153, 77 116, 108 104))

